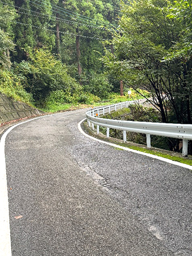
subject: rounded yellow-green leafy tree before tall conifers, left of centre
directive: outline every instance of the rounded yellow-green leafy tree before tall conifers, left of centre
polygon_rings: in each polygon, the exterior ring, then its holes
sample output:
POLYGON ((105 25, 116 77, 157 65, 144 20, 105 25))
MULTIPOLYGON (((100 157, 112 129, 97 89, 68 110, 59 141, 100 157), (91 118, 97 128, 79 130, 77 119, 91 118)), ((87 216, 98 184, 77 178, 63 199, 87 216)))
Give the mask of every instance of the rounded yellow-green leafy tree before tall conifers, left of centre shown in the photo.
POLYGON ((43 101, 51 91, 63 90, 71 95, 81 89, 67 74, 66 66, 46 48, 30 51, 28 62, 23 61, 16 68, 26 77, 25 88, 36 101, 43 101))

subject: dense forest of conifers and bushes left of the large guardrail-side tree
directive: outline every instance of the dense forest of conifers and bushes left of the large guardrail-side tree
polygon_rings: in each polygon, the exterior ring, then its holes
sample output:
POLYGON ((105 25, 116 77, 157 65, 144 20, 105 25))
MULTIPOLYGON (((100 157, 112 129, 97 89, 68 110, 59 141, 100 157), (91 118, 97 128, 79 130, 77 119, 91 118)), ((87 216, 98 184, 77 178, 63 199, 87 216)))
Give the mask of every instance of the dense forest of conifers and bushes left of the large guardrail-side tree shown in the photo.
POLYGON ((0 12, 1 92, 16 91, 36 106, 97 102, 118 92, 102 57, 117 31, 120 1, 5 0, 0 12))

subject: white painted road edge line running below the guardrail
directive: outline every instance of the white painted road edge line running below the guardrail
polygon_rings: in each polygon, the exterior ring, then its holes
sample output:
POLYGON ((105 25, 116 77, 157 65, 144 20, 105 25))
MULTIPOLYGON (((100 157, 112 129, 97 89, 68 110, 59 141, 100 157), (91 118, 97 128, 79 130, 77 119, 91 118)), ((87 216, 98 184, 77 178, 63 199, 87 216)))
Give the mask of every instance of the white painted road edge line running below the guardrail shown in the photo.
POLYGON ((174 164, 174 165, 176 165, 176 166, 180 166, 180 167, 184 167, 184 168, 187 168, 187 169, 189 169, 189 170, 192 170, 192 166, 189 166, 188 164, 185 164, 185 163, 180 163, 180 162, 173 161, 173 160, 171 160, 171 159, 167 159, 167 158, 163 158, 163 157, 158 157, 158 155, 151 155, 151 154, 148 154, 148 153, 145 153, 145 152, 137 151, 137 150, 134 150, 134 149, 129 149, 128 147, 116 145, 116 144, 113 144, 113 143, 111 143, 111 142, 99 140, 98 138, 92 137, 92 136, 86 134, 86 133, 82 130, 82 128, 81 128, 81 124, 82 124, 82 122, 84 122, 85 120, 86 120, 86 118, 83 119, 83 120, 81 120, 81 121, 78 123, 78 129, 79 129, 79 131, 80 131, 82 134, 84 134, 86 137, 91 138, 91 139, 94 140, 94 141, 98 141, 98 142, 101 142, 101 143, 104 143, 104 144, 107 144, 107 145, 110 145, 110 146, 113 146, 113 147, 117 147, 117 148, 119 148, 119 149, 123 149, 123 150, 126 150, 126 151, 130 151, 130 152, 136 153, 136 154, 146 155, 147 157, 151 157, 151 158, 155 158, 155 159, 158 159, 158 160, 162 160, 162 161, 164 161, 164 162, 171 163, 171 164, 174 164))

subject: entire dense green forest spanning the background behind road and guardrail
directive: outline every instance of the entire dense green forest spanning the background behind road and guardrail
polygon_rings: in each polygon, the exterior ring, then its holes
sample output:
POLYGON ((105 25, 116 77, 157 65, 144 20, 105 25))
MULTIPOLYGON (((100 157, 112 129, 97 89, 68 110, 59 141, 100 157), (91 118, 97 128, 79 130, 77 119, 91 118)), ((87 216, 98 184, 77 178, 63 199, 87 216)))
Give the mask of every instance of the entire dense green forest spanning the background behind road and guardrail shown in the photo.
POLYGON ((190 1, 1 0, 0 91, 38 107, 133 88, 192 123, 190 1))

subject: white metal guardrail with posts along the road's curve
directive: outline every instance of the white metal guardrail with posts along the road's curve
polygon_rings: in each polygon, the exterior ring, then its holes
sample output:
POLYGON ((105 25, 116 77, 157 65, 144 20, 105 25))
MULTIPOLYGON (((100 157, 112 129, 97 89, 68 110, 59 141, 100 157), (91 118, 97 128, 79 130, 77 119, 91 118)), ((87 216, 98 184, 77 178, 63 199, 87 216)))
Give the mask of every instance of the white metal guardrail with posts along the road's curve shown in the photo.
POLYGON ((97 125, 97 134, 99 127, 107 127, 107 138, 110 137, 110 128, 123 131, 123 141, 126 142, 126 131, 145 133, 147 147, 151 147, 150 135, 158 135, 171 138, 179 138, 183 141, 182 155, 187 157, 188 140, 192 140, 192 125, 191 124, 167 124, 167 123, 152 123, 152 122, 134 122, 124 120, 111 120, 99 118, 100 115, 105 115, 111 111, 123 109, 132 104, 133 101, 120 102, 110 106, 103 106, 97 109, 86 112, 89 127, 94 129, 97 125))

